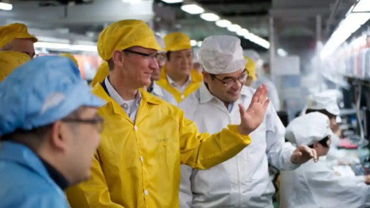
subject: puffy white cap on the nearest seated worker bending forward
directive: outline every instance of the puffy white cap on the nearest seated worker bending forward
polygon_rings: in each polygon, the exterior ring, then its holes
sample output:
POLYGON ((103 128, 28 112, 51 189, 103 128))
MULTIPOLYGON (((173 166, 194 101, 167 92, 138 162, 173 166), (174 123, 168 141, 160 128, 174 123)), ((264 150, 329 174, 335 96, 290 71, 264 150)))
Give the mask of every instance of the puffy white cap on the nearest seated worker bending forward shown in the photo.
POLYGON ((319 112, 297 117, 286 128, 285 139, 299 145, 312 145, 326 137, 333 137, 329 118, 319 112))

